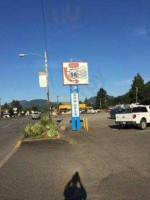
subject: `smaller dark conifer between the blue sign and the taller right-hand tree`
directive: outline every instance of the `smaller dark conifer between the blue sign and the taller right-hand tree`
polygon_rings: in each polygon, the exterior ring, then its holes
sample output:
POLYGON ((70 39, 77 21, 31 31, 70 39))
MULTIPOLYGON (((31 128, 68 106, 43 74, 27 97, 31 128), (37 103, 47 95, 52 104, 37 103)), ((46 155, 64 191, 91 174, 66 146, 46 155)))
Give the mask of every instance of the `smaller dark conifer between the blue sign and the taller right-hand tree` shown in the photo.
POLYGON ((95 106, 96 108, 105 109, 107 107, 107 92, 103 88, 100 88, 97 92, 95 106))

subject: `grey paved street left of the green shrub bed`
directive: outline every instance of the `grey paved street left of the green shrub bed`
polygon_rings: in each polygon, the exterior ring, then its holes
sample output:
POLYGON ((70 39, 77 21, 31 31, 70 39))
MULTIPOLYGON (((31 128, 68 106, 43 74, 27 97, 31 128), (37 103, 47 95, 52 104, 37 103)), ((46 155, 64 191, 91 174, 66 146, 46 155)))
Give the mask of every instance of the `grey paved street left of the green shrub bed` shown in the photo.
POLYGON ((22 138, 22 131, 30 118, 11 118, 0 120, 0 161, 22 138))

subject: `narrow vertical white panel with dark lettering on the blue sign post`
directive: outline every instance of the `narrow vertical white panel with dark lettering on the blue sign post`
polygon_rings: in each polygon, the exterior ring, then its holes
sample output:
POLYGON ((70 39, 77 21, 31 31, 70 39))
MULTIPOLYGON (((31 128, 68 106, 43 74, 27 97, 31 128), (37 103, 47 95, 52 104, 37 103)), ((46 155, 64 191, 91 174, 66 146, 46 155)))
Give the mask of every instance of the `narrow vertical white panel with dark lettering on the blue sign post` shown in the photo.
POLYGON ((78 93, 71 93, 72 117, 79 117, 79 96, 78 93))

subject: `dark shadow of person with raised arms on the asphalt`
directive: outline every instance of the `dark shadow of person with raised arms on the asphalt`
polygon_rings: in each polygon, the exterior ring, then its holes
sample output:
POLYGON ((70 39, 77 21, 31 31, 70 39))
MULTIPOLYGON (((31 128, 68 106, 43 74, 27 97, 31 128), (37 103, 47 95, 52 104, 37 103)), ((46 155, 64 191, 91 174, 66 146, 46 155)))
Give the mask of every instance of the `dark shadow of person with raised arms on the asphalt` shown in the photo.
POLYGON ((65 200, 86 200, 87 193, 82 185, 79 173, 76 172, 64 191, 65 200))

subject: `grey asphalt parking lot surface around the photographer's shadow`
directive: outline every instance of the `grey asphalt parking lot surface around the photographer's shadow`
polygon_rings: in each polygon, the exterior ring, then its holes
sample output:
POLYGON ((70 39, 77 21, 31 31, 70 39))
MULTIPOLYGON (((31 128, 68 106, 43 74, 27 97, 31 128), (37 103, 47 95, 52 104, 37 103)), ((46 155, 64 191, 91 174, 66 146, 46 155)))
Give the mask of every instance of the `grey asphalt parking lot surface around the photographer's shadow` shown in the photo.
POLYGON ((88 133, 22 144, 0 169, 0 199, 64 199, 78 171, 89 200, 149 200, 150 128, 119 130, 108 113, 86 116, 88 133))

